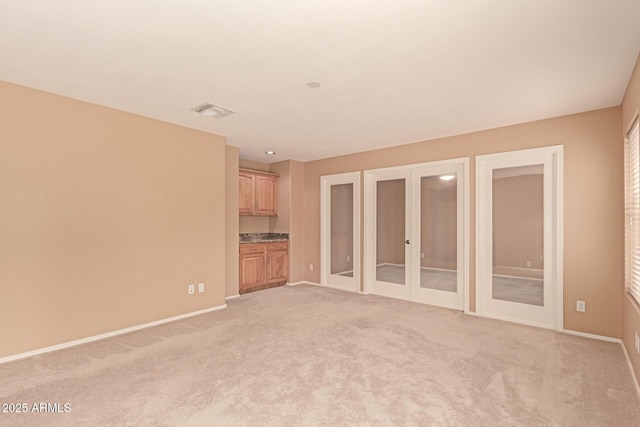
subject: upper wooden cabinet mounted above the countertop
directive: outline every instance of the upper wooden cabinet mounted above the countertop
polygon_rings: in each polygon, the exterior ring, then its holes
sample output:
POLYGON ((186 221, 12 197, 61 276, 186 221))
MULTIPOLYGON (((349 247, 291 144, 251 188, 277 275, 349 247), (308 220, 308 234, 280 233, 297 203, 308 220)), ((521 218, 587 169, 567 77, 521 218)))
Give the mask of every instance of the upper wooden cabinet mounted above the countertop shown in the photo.
POLYGON ((278 175, 240 169, 238 174, 240 215, 278 215, 278 175))

